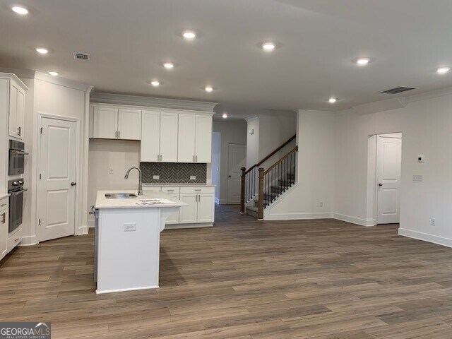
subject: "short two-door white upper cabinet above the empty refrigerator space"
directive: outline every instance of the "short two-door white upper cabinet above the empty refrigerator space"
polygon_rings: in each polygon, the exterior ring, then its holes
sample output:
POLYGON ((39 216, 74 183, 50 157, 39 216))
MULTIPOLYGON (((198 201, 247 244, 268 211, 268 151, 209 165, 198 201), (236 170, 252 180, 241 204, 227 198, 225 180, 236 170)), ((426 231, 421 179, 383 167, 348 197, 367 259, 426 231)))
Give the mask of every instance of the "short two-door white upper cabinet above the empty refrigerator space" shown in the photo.
POLYGON ((141 110, 94 107, 93 138, 141 139, 141 110))

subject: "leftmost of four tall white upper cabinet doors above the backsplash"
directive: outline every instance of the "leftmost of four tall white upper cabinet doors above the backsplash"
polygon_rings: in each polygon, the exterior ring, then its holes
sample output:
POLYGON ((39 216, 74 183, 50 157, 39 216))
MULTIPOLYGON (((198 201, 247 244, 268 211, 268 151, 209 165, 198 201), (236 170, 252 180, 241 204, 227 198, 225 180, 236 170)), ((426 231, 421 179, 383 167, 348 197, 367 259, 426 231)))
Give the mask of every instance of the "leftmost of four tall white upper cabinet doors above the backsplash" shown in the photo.
POLYGON ((160 112, 141 113, 141 161, 157 162, 160 155, 160 112))

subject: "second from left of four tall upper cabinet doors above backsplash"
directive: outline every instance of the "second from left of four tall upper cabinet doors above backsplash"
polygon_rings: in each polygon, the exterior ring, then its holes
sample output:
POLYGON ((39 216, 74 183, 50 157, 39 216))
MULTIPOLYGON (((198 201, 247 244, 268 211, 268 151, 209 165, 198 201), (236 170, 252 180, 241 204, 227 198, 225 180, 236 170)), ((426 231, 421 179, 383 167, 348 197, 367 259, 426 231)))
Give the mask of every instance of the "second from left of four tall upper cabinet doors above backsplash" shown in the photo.
POLYGON ((177 122, 179 114, 160 114, 160 161, 177 162, 177 122))

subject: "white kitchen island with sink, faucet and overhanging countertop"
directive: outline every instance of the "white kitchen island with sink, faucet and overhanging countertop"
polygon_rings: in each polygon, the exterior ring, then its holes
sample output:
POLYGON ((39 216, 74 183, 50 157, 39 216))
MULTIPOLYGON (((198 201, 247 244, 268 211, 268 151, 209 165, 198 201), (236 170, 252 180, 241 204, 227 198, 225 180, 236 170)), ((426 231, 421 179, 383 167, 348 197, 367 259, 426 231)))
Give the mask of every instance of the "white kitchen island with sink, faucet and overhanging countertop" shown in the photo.
POLYGON ((160 232, 186 205, 163 192, 97 191, 96 293, 158 287, 160 232))

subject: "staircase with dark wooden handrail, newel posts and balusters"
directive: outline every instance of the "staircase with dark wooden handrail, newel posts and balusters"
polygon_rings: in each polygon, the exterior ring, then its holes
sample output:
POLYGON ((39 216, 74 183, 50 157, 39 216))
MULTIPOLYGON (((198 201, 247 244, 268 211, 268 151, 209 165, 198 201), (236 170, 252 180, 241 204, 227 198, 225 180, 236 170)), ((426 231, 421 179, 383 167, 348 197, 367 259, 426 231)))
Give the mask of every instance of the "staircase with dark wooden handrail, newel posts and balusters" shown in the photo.
POLYGON ((268 169, 260 167, 270 157, 273 157, 285 145, 289 144, 296 136, 292 136, 283 145, 263 158, 249 169, 242 167, 242 194, 240 199, 240 212, 263 219, 263 210, 284 194, 295 184, 295 165, 298 146, 292 148, 268 169))

